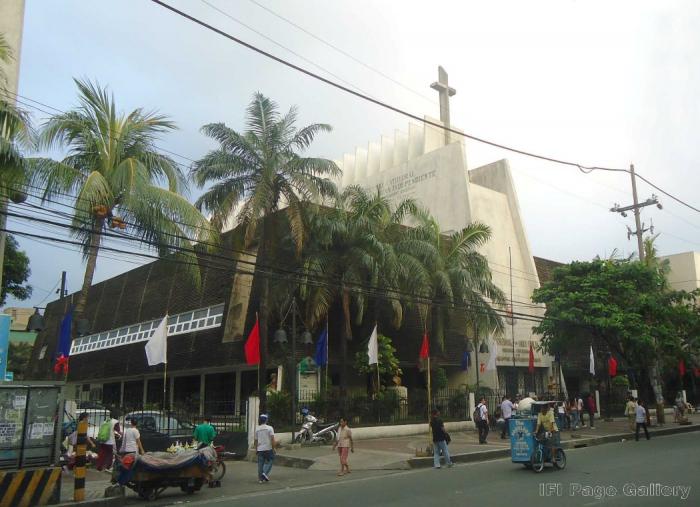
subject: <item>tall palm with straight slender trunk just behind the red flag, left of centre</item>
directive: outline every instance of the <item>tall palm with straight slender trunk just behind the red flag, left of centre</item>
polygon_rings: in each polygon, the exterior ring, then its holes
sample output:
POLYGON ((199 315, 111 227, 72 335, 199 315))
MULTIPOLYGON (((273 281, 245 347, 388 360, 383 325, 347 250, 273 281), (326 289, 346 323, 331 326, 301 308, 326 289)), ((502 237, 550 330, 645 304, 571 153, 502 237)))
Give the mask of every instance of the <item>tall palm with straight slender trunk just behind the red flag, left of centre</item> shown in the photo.
MULTIPOLYGON (((225 227, 237 211, 236 221, 245 231, 245 245, 258 239, 259 263, 269 264, 276 255, 276 222, 269 220, 284 208, 297 253, 305 237, 304 203, 333 196, 335 185, 329 177, 340 174, 331 160, 304 157, 317 134, 330 132, 330 125, 314 123, 298 129, 297 109, 281 115, 275 102, 255 93, 246 110, 246 130, 236 132, 224 123, 210 123, 202 132, 218 141, 192 167, 191 176, 201 188, 212 186, 195 203, 211 213, 219 229, 225 227)), ((267 366, 270 281, 261 280, 260 292, 260 385, 265 385, 267 366)), ((265 392, 260 392, 264 409, 265 392)))

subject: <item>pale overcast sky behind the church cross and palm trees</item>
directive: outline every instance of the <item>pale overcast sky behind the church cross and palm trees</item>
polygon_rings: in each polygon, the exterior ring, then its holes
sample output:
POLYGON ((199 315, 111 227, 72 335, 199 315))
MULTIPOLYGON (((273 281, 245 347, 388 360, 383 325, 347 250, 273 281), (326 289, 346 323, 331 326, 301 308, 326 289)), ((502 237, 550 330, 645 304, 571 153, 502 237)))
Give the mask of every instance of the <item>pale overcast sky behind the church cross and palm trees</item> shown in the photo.
MULTIPOLYGON (((207 2, 282 47, 201 0, 170 3, 419 115, 439 115, 429 85, 436 80, 437 65, 443 65, 457 89, 452 98, 456 127, 585 165, 625 168, 634 163, 638 172, 700 207, 700 2, 256 1, 402 86, 250 0, 207 2)), ((213 121, 242 128, 244 109, 258 90, 284 109, 298 105, 300 125, 332 124, 333 133, 319 137, 313 147, 314 154, 329 158, 340 158, 381 134, 405 130, 408 123, 147 0, 27 0, 19 93, 67 109, 76 103, 74 76, 109 85, 120 109, 144 107, 170 115, 179 130, 159 145, 195 159, 213 146, 199 128, 213 121)), ((38 122, 45 117, 35 115, 38 122)), ((568 262, 614 249, 625 254, 635 250, 636 243, 626 236, 633 219, 608 211, 615 202, 631 202, 627 175, 585 175, 471 141, 467 149, 470 167, 510 160, 534 255, 568 262)), ((640 200, 651 193, 640 182, 640 200)), ((698 213, 660 199, 664 209, 647 208, 643 220, 649 225, 653 219, 661 233, 661 253, 700 250, 698 213)), ((36 232, 26 223, 11 221, 10 228, 36 232)), ((79 253, 19 241, 31 257, 35 292, 30 301, 9 305, 53 299, 49 292, 61 270, 68 271, 69 290, 79 289, 79 253)), ((100 257, 95 281, 131 267, 100 257)))

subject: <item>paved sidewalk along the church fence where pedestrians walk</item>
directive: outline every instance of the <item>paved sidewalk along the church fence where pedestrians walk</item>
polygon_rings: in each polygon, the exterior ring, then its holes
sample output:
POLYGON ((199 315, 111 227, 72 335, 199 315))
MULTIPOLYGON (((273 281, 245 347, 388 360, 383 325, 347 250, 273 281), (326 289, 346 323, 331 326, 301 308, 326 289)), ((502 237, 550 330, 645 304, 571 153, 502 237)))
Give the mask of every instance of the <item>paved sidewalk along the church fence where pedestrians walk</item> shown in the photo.
MULTIPOLYGON (((690 416, 689 426, 667 423, 664 426, 652 426, 651 435, 655 433, 671 434, 700 430, 700 415, 690 416)), ((627 419, 613 421, 597 420, 595 429, 580 428, 577 431, 565 430, 561 433, 564 448, 599 445, 623 438, 634 438, 630 432, 627 419)), ((476 431, 450 432, 450 455, 457 462, 482 461, 510 456, 510 440, 501 440, 500 433, 491 431, 487 444, 479 444, 476 431)), ((431 457, 417 456, 429 445, 428 435, 413 435, 391 438, 355 439, 355 452, 350 455, 353 470, 402 470, 432 466, 431 457)), ((277 465, 308 468, 310 470, 336 470, 338 456, 332 448, 326 446, 285 446, 277 452, 277 465)))

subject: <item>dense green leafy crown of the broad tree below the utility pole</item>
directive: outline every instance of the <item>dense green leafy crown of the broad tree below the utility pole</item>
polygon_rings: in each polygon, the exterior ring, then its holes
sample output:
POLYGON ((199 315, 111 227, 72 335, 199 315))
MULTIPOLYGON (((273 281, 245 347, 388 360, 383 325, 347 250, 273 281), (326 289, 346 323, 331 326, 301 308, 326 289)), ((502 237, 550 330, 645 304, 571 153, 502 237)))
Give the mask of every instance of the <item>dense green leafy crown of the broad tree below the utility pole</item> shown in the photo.
POLYGON ((547 307, 533 330, 549 353, 572 344, 611 350, 635 368, 675 362, 697 343, 698 294, 667 288, 656 265, 629 260, 573 262, 533 293, 547 307))

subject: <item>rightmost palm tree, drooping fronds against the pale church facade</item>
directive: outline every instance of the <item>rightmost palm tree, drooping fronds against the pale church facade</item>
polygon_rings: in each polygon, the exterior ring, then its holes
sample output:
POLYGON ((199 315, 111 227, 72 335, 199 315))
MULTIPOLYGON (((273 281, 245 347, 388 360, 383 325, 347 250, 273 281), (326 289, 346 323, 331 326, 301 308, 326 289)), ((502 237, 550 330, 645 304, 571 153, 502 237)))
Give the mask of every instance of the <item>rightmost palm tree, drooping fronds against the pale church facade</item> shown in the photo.
POLYGON ((493 304, 503 305, 505 295, 493 283, 488 260, 478 251, 491 238, 491 229, 473 222, 447 236, 426 210, 420 210, 416 218, 411 236, 423 242, 423 248, 414 247, 414 251, 431 273, 428 310, 436 342, 444 347, 445 329, 455 305, 472 309, 468 320, 477 323, 480 333, 502 332, 503 321, 493 304))

